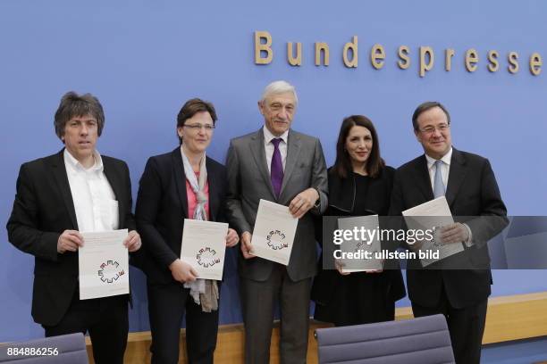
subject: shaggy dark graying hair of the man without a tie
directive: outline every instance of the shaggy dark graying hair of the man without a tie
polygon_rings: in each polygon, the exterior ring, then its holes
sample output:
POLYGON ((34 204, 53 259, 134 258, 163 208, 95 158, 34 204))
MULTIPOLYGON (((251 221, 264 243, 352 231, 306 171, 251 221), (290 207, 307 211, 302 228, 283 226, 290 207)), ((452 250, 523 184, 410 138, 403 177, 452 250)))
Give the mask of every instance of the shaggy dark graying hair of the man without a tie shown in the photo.
POLYGON ((97 120, 97 135, 101 136, 105 127, 105 112, 97 97, 91 94, 78 95, 74 91, 67 92, 55 112, 55 134, 63 140, 66 123, 75 116, 85 115, 91 115, 97 120))

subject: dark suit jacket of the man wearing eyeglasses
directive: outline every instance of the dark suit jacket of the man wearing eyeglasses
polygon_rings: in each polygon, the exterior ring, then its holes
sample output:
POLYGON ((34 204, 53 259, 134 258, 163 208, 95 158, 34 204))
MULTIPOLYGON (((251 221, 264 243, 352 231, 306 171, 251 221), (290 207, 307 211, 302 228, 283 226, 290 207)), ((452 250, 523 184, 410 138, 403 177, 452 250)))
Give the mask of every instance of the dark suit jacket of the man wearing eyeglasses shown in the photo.
MULTIPOLYGON (((501 201, 490 162, 455 148, 452 148, 445 196, 452 216, 467 223, 475 243, 449 260, 467 260, 467 266, 483 269, 408 269, 408 297, 421 306, 433 307, 441 297, 444 284, 450 304, 454 308, 463 308, 484 301, 491 293, 492 274, 486 243, 507 226, 507 209, 501 201), (501 218, 473 219, 478 216, 501 218)), ((427 160, 425 155, 421 155, 395 172, 390 214, 401 215, 401 211, 430 200, 433 200, 433 189, 427 160)))

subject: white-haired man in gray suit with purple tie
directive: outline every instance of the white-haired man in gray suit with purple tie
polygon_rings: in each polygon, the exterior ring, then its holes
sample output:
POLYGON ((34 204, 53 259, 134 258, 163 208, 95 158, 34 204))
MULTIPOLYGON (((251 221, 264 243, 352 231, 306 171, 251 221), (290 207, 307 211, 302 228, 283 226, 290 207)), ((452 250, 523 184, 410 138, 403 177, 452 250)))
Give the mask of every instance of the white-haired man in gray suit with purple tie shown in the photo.
POLYGON ((281 309, 281 362, 306 362, 309 293, 316 274, 314 223, 307 212, 321 214, 326 208, 327 174, 319 140, 290 129, 296 107, 297 95, 289 83, 268 85, 258 102, 264 127, 231 140, 228 152, 228 211, 241 239, 248 363, 270 359, 276 302, 281 309), (252 255, 251 234, 260 199, 287 205, 299 218, 288 266, 252 255))

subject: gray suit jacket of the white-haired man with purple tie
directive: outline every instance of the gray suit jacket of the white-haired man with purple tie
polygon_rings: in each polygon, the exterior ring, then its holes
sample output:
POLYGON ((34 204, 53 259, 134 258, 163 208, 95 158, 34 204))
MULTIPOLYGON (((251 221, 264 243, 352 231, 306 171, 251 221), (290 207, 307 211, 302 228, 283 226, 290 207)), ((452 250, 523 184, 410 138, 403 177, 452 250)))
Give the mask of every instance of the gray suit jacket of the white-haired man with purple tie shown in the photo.
MULTIPOLYGON (((239 234, 252 234, 260 199, 288 206, 290 201, 309 187, 319 191, 321 203, 309 212, 321 214, 327 206, 327 173, 319 139, 289 130, 287 160, 279 199, 273 187, 265 157, 264 132, 232 139, 226 161, 228 170, 228 220, 239 234)), ((287 272, 299 281, 316 274, 316 238, 310 213, 299 219, 287 272)), ((240 275, 257 281, 270 277, 275 263, 262 258, 240 257, 240 275)))

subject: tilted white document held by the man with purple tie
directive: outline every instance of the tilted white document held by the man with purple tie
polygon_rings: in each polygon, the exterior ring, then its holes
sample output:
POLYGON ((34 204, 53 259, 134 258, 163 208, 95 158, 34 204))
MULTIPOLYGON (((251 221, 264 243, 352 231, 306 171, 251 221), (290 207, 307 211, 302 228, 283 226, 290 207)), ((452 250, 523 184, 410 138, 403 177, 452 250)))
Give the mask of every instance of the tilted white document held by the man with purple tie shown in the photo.
POLYGON ((287 206, 260 200, 253 230, 253 255, 289 265, 299 219, 293 218, 287 206))

